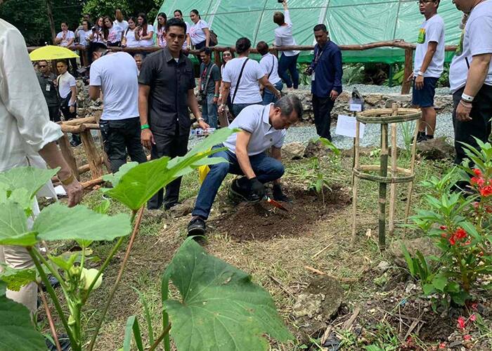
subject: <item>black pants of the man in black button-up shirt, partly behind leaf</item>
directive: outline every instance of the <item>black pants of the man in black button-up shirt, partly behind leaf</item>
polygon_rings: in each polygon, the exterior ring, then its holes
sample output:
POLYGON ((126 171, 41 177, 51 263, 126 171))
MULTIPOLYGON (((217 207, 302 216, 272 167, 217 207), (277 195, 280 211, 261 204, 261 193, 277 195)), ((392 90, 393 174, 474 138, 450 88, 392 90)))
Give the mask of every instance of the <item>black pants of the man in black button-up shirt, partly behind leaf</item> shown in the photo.
MULTIPOLYGON (((188 152, 188 137, 189 131, 186 134, 179 134, 178 126, 176 126, 175 135, 166 135, 157 128, 152 129, 155 145, 152 146, 150 159, 160 159, 163 156, 177 157, 184 156, 188 152), (156 130, 157 129, 157 130, 156 130)), ((160 208, 162 204, 165 206, 175 204, 179 200, 179 188, 181 187, 181 177, 173 180, 166 186, 166 194, 161 189, 155 194, 147 204, 147 208, 155 210, 160 208)))

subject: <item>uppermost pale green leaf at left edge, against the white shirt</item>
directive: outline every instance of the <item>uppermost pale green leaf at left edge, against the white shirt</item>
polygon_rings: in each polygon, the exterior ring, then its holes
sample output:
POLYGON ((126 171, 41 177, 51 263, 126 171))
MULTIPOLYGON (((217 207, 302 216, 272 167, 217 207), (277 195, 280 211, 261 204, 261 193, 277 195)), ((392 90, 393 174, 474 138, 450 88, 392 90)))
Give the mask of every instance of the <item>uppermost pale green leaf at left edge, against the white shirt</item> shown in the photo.
POLYGON ((51 180, 51 177, 56 175, 59 169, 15 167, 0 173, 0 184, 6 185, 9 190, 24 188, 30 197, 33 197, 48 180, 51 180))

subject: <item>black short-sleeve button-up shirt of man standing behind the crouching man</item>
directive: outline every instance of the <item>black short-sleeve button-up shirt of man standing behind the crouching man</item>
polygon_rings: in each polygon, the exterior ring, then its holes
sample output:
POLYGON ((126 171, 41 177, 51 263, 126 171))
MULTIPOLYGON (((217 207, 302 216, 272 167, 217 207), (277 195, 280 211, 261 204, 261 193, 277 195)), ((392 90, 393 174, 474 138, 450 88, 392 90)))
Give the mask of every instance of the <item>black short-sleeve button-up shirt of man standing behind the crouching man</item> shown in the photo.
POLYGON ((151 53, 142 62, 138 83, 150 86, 148 122, 151 131, 175 135, 190 133, 188 91, 195 88, 193 63, 182 53, 176 62, 165 47, 151 53))

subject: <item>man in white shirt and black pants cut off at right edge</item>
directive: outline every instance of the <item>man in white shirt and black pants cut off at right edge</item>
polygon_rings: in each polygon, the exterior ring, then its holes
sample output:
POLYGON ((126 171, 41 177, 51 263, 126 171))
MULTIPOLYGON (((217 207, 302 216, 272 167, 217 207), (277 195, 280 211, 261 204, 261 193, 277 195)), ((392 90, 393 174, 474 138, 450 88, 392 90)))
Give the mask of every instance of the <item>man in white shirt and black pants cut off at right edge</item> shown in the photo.
POLYGON ((453 93, 455 164, 467 158, 462 143, 480 150, 475 138, 487 143, 492 117, 492 1, 454 0, 458 10, 470 13, 462 41, 449 68, 453 93))

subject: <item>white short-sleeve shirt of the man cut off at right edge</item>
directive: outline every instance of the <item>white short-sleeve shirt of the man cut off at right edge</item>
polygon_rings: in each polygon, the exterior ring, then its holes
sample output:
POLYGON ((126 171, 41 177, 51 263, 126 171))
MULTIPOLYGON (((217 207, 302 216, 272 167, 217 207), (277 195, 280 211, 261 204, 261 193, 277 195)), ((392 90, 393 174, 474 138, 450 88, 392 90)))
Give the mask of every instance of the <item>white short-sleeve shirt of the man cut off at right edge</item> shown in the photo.
MULTIPOLYGON (((473 56, 492 53, 492 1, 475 6, 468 17, 462 42, 449 67, 449 85, 454 93, 466 85, 473 56)), ((488 66, 485 84, 492 86, 492 65, 488 66)))

